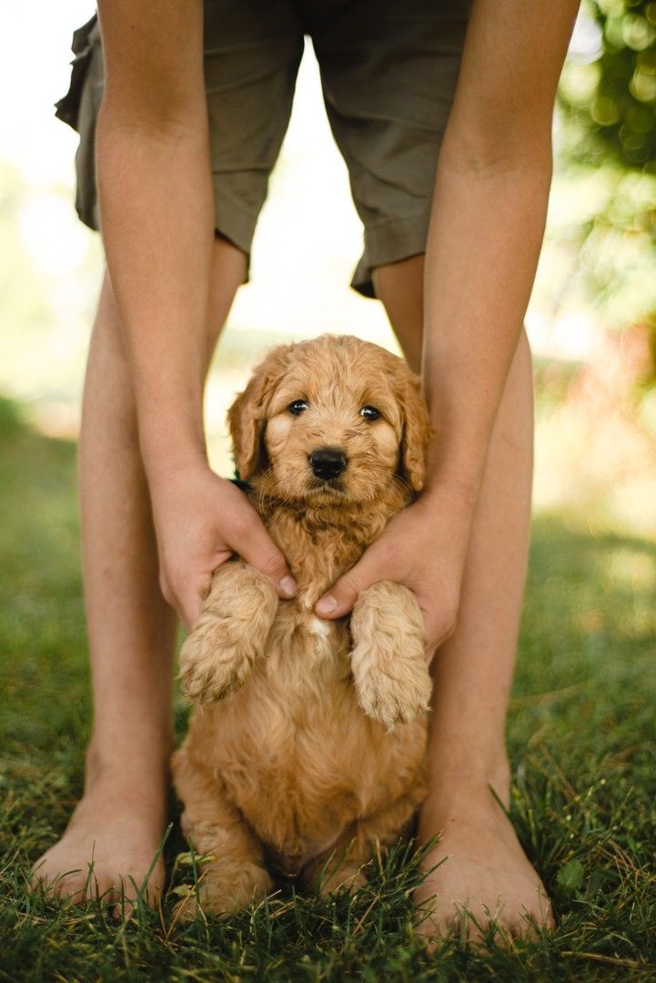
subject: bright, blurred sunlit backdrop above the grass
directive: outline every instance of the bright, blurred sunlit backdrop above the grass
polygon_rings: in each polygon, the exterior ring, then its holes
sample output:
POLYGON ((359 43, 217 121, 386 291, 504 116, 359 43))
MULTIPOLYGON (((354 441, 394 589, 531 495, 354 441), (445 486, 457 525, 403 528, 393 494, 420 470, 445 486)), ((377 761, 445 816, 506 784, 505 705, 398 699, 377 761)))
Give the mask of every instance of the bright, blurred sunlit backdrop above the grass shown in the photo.
MULTIPOLYGON (((0 7, 0 394, 44 434, 75 437, 102 271, 74 209, 68 88, 88 0, 0 7), (34 22, 38 23, 35 25, 34 22)), ((656 3, 584 4, 555 120, 556 177, 526 322, 538 386, 535 507, 590 529, 656 535, 656 3)), ((225 409, 281 339, 346 331, 395 348, 349 287, 361 226, 325 118, 311 45, 291 126, 208 386, 212 460, 231 471, 225 409)), ((653 572, 653 571, 652 571, 653 572)), ((656 575, 655 575, 656 576, 656 575)))

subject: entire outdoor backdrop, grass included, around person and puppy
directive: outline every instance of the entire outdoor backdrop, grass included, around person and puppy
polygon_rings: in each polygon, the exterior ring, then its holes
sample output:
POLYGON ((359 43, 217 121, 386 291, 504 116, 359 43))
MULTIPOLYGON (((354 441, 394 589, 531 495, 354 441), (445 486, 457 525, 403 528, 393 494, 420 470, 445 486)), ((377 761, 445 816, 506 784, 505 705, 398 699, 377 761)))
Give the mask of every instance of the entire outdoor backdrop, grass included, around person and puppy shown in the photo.
MULTIPOLYGON (((510 955, 449 944, 427 969, 408 927, 413 875, 384 872, 374 899, 345 901, 348 911, 309 899, 275 920, 267 908, 185 934, 167 921, 189 874, 173 862, 185 849, 175 829, 161 922, 139 910, 117 932, 95 909, 26 894, 30 864, 82 793, 91 725, 76 438, 102 255, 73 205, 77 137, 52 108, 68 87, 72 31, 91 13, 88 0, 0 4, 0 977, 87 980, 92 967, 112 981, 654 980, 656 2, 646 0, 583 0, 526 317, 535 522, 508 738, 512 818, 554 899, 555 936, 510 955)), ((220 473, 232 470, 225 408, 266 348, 322 331, 395 347, 380 305, 348 286, 360 237, 308 47, 251 279, 208 386, 220 473)), ((178 701, 179 736, 186 714, 178 701)))

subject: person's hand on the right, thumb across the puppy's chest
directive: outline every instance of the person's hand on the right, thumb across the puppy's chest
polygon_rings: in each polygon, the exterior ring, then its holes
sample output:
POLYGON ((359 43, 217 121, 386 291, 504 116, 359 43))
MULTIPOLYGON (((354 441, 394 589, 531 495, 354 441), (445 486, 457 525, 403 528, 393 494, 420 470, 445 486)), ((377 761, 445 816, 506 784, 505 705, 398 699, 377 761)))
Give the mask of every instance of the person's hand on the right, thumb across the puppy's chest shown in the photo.
POLYGON ((456 627, 470 521, 471 504, 458 492, 424 492, 390 519, 382 536, 318 600, 316 613, 342 617, 371 584, 403 584, 423 615, 431 657, 456 627))

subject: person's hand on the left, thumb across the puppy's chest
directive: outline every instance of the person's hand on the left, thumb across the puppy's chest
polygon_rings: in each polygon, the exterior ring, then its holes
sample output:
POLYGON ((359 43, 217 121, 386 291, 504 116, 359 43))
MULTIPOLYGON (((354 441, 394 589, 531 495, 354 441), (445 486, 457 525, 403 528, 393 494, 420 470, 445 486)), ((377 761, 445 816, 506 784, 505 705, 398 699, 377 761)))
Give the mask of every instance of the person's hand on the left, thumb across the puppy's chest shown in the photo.
POLYGON ((201 463, 150 481, 160 586, 188 628, 200 614, 216 568, 233 553, 263 573, 279 597, 297 584, 257 512, 232 482, 201 463))

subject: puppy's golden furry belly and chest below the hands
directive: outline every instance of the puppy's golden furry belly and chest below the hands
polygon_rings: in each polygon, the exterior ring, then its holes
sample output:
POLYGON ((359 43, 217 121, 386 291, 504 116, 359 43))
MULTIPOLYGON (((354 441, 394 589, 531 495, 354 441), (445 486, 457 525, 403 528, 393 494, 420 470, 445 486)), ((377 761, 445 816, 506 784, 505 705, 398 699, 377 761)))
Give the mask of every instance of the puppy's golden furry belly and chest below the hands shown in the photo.
POLYGON ((357 704, 345 624, 289 614, 245 687, 196 712, 186 750, 217 776, 275 865, 297 873, 416 784, 423 722, 388 733, 357 704))

